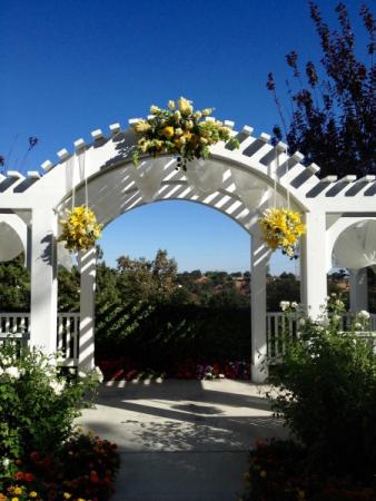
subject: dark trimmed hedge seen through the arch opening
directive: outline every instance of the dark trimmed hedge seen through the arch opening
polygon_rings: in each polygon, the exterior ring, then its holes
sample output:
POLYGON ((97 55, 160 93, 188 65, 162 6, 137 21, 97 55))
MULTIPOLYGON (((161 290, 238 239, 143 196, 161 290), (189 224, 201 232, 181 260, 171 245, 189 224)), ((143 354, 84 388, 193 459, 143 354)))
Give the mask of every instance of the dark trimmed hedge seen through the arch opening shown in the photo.
POLYGON ((96 331, 97 360, 125 356, 140 369, 168 372, 197 362, 248 360, 249 308, 133 303, 105 310, 96 331))

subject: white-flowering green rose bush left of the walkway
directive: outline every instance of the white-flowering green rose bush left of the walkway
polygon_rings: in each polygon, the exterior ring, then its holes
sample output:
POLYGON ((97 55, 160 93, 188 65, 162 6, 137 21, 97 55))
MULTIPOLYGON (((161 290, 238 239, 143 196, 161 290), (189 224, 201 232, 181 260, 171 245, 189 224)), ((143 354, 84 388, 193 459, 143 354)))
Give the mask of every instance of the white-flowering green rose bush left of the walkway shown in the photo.
MULTIPOLYGON (((33 450, 53 453, 73 430, 95 375, 70 381, 61 375, 55 355, 0 350, 0 455, 16 460, 33 450)), ((1 470, 1 464, 0 464, 1 470)))

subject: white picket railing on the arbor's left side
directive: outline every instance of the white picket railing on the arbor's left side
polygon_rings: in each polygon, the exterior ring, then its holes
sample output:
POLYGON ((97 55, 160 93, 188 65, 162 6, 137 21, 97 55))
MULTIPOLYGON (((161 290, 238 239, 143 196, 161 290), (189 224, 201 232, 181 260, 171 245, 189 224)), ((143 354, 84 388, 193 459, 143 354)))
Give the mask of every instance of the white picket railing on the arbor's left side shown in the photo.
MULTIPOLYGON (((65 354, 65 365, 76 366, 79 360, 79 313, 58 313, 57 348, 65 354)), ((26 346, 30 338, 30 313, 0 313, 0 346, 17 342, 26 346)))

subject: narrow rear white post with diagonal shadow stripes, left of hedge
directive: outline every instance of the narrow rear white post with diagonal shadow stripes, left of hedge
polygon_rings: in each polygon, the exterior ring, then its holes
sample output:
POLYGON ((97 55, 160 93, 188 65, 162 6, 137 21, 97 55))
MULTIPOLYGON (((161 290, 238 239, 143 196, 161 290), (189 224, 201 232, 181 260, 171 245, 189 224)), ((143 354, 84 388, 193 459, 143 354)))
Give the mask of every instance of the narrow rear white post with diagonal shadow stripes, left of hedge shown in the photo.
POLYGON ((83 372, 95 366, 96 259, 96 247, 79 253, 81 273, 79 370, 83 372))

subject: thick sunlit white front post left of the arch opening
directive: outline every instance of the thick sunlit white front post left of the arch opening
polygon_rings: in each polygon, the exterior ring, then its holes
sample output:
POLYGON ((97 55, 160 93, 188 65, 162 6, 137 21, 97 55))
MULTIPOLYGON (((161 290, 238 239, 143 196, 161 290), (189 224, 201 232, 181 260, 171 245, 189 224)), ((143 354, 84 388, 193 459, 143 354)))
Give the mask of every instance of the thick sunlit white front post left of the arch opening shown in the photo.
POLYGON ((57 216, 51 209, 33 209, 31 217, 30 345, 53 353, 58 315, 57 216))

